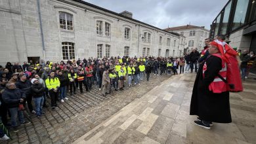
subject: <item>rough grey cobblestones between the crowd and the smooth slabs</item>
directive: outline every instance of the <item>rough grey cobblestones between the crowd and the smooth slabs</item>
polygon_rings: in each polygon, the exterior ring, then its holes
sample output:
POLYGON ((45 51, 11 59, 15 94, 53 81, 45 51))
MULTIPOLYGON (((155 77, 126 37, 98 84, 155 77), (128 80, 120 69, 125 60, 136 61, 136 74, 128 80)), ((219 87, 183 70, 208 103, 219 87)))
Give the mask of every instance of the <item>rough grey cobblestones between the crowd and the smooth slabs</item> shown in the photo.
MULTIPOLYGON (((114 91, 106 97, 96 86, 84 94, 77 90, 75 96, 68 96, 69 100, 60 103, 55 111, 49 107, 41 118, 32 115, 31 124, 20 126, 19 132, 11 132, 12 140, 0 143, 72 143, 169 78, 167 75, 151 76, 150 81, 143 80, 140 86, 128 88, 125 82, 123 91, 114 91)), ((47 103, 49 105, 50 99, 47 99, 47 103)))

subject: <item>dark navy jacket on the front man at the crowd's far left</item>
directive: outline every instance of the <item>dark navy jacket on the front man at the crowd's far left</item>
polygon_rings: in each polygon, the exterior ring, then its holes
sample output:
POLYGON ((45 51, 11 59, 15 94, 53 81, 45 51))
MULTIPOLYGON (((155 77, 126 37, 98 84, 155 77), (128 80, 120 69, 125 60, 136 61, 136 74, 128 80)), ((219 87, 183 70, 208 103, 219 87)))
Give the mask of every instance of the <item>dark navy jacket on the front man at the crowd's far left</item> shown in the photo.
POLYGON ((25 94, 18 88, 10 90, 5 88, 5 91, 2 94, 3 101, 7 103, 7 107, 13 108, 18 107, 21 98, 26 98, 25 94))

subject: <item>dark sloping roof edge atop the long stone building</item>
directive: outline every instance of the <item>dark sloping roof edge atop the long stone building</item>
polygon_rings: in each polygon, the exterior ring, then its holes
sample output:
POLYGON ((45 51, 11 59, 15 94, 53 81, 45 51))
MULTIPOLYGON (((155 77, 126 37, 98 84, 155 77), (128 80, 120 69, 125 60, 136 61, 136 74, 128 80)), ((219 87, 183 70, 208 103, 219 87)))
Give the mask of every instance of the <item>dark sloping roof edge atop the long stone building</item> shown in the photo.
MULTIPOLYGON (((58 1, 61 1, 61 0, 58 0, 58 1)), ((111 11, 111 10, 108 10, 108 9, 104 9, 104 8, 102 8, 102 7, 98 7, 98 6, 96 6, 96 5, 93 5, 93 4, 91 4, 91 3, 88 3, 88 2, 86 2, 86 1, 82 1, 82 0, 72 0, 72 1, 76 1, 76 2, 82 3, 82 4, 84 4, 84 5, 88 5, 89 7, 93 7, 93 8, 95 8, 95 9, 100 9, 100 10, 103 10, 103 11, 105 11, 105 12, 109 12, 109 13, 111 13, 111 14, 115 14, 116 16, 119 16, 119 17, 122 17, 122 18, 126 18, 126 19, 129 19, 129 20, 133 20, 134 22, 138 22, 138 23, 144 24, 144 25, 146 25, 146 26, 154 27, 155 29, 158 29, 158 30, 160 30, 160 31, 165 31, 165 33, 170 33, 170 34, 172 34, 172 35, 177 35, 178 37, 180 36, 179 33, 175 33, 175 32, 172 32, 172 31, 166 31, 165 29, 160 29, 159 27, 155 27, 155 26, 152 26, 152 25, 150 25, 150 24, 146 24, 146 23, 144 23, 144 22, 140 22, 139 20, 135 20, 135 19, 133 19, 133 18, 129 18, 129 17, 127 17, 127 16, 123 16, 122 14, 119 14, 119 13, 117 13, 117 12, 114 12, 114 11, 111 11)))

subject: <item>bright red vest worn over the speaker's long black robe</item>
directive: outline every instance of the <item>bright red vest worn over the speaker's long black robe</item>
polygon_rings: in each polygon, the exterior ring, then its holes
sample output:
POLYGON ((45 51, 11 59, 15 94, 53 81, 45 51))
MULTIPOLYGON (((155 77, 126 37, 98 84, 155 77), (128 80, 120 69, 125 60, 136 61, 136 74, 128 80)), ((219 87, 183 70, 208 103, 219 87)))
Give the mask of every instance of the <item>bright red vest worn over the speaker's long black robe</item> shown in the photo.
MULTIPOLYGON (((211 56, 217 56, 221 58, 220 54, 212 54, 211 56)), ((204 73, 207 70, 207 63, 205 62, 203 65, 203 78, 205 77, 204 73)), ((219 75, 223 77, 223 79, 226 79, 226 63, 223 63, 223 69, 219 71, 219 75)), ((218 76, 215 77, 213 82, 209 85, 209 90, 212 91, 213 93, 222 93, 226 92, 227 90, 227 85, 226 83, 218 76)))

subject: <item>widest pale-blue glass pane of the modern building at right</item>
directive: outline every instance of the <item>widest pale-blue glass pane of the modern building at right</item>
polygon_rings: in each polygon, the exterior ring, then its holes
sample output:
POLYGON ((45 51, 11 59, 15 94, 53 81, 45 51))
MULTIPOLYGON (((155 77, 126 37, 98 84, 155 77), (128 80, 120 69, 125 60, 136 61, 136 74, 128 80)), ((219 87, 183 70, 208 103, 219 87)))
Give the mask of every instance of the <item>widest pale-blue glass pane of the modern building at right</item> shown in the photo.
POLYGON ((244 24, 248 3, 249 3, 249 0, 238 0, 238 3, 236 4, 236 12, 234 14, 232 30, 244 24))

